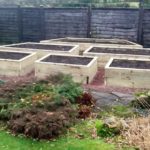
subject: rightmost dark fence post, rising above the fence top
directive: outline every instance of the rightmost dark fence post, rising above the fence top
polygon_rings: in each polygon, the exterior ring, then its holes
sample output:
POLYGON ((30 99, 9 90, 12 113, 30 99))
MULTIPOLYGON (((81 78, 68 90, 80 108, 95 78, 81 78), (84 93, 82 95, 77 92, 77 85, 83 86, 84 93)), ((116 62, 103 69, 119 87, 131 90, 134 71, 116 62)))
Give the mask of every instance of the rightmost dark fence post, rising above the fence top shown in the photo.
POLYGON ((143 17, 144 17, 144 0, 139 0, 139 21, 138 21, 138 37, 137 41, 143 44, 143 17))

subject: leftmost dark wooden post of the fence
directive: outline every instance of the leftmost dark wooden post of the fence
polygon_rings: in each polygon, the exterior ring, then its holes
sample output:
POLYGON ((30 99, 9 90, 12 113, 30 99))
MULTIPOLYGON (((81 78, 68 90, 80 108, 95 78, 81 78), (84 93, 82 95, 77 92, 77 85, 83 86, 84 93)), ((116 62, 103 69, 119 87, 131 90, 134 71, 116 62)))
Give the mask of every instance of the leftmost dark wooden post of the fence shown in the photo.
POLYGON ((22 22, 22 8, 18 6, 17 8, 18 16, 18 40, 19 42, 23 41, 23 22, 22 22))

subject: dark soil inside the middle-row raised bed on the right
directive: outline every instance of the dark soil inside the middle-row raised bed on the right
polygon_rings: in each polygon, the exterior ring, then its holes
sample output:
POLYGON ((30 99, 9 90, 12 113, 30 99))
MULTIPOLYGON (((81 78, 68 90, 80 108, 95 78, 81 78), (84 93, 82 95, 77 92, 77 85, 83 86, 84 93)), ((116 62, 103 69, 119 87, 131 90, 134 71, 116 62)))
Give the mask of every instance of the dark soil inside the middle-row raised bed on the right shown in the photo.
POLYGON ((150 55, 150 50, 93 47, 89 52, 110 54, 150 55))

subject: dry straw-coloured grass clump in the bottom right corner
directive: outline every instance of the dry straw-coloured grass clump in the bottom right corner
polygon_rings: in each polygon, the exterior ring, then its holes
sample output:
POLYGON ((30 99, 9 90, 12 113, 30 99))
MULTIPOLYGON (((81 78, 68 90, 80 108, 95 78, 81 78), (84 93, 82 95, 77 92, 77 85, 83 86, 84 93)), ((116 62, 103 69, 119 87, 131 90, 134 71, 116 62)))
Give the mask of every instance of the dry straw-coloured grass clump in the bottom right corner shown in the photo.
POLYGON ((150 150, 150 117, 135 118, 128 125, 122 133, 128 143, 140 150, 150 150))

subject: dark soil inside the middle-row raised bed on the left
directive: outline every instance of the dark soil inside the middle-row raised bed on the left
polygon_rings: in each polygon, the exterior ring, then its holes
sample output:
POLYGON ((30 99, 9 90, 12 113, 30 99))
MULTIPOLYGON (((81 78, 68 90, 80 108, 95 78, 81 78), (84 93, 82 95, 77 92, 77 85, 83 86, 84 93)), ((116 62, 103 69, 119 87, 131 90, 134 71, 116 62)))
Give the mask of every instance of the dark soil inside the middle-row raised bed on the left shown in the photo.
POLYGON ((56 51, 69 51, 73 46, 63 46, 63 45, 45 45, 45 44, 35 44, 35 43, 25 43, 20 45, 12 45, 9 47, 17 48, 29 48, 29 49, 40 49, 40 50, 56 50, 56 51))

